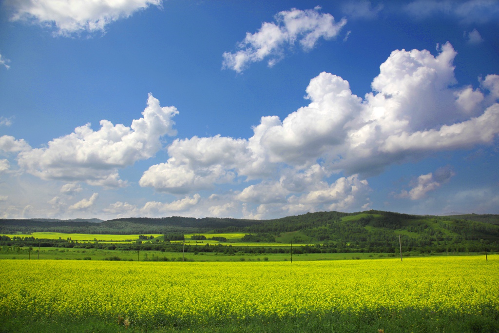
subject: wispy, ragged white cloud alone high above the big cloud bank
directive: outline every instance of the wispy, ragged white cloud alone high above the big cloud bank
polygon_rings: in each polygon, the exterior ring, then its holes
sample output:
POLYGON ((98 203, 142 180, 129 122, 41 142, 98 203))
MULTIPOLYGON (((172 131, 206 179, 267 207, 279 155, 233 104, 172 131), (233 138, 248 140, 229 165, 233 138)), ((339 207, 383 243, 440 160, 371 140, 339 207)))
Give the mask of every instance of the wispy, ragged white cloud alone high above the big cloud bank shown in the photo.
POLYGON ((238 43, 238 51, 225 52, 223 68, 240 73, 251 62, 265 58, 268 58, 267 64, 271 67, 296 42, 304 51, 309 51, 320 38, 335 37, 345 24, 346 19, 335 22, 331 14, 321 13, 320 7, 281 11, 275 15, 275 22, 263 22, 257 32, 247 32, 246 38, 238 43))

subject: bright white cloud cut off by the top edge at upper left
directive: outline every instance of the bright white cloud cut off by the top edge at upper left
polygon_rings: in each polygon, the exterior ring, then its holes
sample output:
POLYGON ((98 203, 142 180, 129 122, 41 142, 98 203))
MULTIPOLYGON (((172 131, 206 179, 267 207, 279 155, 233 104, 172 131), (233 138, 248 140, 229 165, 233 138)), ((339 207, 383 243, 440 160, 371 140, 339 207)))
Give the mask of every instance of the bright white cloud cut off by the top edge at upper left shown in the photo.
POLYGON ((56 34, 105 31, 107 24, 126 18, 162 0, 9 0, 14 12, 10 19, 26 20, 42 26, 54 25, 56 34))

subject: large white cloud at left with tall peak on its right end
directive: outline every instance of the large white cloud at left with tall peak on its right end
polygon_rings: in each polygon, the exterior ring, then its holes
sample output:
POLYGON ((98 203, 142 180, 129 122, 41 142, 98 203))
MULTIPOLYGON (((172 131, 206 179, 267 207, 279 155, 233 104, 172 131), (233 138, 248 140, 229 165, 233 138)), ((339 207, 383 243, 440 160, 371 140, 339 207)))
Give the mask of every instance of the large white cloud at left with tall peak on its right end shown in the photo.
POLYGON ((101 128, 93 131, 90 124, 77 127, 69 135, 48 142, 47 147, 28 149, 23 140, 0 138, 0 148, 19 151, 17 163, 41 179, 86 181, 90 185, 124 186, 118 168, 148 159, 162 148, 164 135, 175 135, 172 117, 178 113, 173 106, 161 107, 149 94, 143 117, 130 127, 101 120, 101 128))

